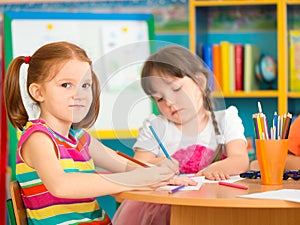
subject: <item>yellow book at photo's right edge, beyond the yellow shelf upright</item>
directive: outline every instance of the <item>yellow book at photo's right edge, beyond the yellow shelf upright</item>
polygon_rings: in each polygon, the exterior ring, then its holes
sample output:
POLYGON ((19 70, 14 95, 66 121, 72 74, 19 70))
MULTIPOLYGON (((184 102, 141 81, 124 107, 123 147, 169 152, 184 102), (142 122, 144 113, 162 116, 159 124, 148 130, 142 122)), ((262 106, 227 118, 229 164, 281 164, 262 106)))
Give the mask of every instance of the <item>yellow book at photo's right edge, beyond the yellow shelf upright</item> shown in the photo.
POLYGON ((300 91, 300 30, 289 31, 289 87, 300 91))

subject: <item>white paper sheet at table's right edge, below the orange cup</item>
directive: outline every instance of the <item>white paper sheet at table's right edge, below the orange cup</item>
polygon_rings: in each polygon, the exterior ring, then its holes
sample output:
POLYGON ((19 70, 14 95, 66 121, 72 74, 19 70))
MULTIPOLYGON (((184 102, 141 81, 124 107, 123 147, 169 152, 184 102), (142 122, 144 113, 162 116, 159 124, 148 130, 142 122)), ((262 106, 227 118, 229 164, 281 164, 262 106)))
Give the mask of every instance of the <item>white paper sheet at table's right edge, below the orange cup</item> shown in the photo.
POLYGON ((259 199, 276 199, 286 200, 300 203, 300 190, 297 189, 282 189, 276 191, 266 191, 248 195, 240 195, 241 198, 259 198, 259 199))

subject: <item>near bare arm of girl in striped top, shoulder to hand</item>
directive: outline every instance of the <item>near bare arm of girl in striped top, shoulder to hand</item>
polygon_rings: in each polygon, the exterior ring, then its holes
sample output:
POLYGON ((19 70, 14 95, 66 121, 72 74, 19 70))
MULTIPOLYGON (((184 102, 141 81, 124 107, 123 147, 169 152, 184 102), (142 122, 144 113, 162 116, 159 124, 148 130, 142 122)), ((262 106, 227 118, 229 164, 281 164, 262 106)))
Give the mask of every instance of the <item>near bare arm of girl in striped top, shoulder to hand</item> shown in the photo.
MULTIPOLYGON (((114 194, 127 190, 149 189, 149 184, 159 184, 174 175, 167 167, 141 168, 140 176, 134 176, 135 184, 113 182, 105 175, 88 173, 65 173, 58 160, 53 141, 44 133, 35 132, 23 144, 24 161, 37 170, 40 179, 51 194, 62 198, 88 198, 114 194)), ((138 170, 127 172, 124 176, 136 175, 138 170)), ((122 175, 122 174, 121 174, 122 175)), ((126 179, 125 179, 126 180, 126 179)))

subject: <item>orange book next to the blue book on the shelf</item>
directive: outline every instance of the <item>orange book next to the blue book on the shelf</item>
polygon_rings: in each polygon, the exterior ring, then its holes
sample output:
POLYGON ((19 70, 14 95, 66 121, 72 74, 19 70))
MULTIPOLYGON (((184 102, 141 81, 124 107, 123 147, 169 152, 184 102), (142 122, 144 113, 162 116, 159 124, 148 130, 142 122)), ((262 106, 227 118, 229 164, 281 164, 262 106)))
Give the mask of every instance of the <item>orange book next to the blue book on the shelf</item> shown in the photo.
POLYGON ((219 44, 212 45, 213 72, 215 75, 215 89, 222 91, 222 68, 221 68, 221 47, 219 44))

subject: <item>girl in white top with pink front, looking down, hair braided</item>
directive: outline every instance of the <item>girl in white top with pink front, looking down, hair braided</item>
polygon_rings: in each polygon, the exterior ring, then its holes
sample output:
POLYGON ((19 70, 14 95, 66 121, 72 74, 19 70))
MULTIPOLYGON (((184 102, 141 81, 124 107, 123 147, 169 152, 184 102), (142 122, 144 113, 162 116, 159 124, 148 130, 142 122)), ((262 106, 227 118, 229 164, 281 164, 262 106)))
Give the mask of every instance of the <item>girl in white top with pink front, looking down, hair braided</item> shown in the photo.
MULTIPOLYGON (((199 57, 181 46, 167 46, 150 56, 142 70, 142 87, 160 115, 151 115, 139 130, 135 158, 155 163, 163 152, 149 126, 156 130, 181 173, 228 179, 248 169, 247 142, 236 107, 215 111, 209 71, 199 57)), ((166 225, 170 206, 125 201, 114 225, 166 225), (126 215, 134 215, 127 217, 126 215)))

